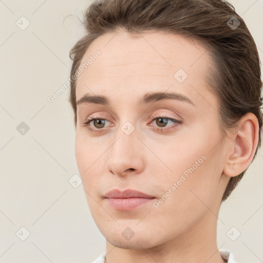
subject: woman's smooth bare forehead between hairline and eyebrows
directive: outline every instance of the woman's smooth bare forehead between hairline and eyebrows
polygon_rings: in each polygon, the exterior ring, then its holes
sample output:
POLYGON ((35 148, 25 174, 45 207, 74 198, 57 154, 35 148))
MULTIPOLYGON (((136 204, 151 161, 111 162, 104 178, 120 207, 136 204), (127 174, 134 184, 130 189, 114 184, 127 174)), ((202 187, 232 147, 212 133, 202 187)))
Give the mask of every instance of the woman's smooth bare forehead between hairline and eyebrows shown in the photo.
POLYGON ((76 97, 84 93, 104 93, 107 96, 126 92, 135 96, 143 91, 173 89, 187 93, 190 83, 205 86, 209 52, 197 41, 178 34, 146 31, 130 34, 124 31, 106 33, 93 41, 85 52, 85 65, 77 78, 76 97), (100 50, 100 55, 95 55, 100 50), (175 73, 187 74, 182 83, 175 73), (185 73, 184 73, 185 72, 185 73))

